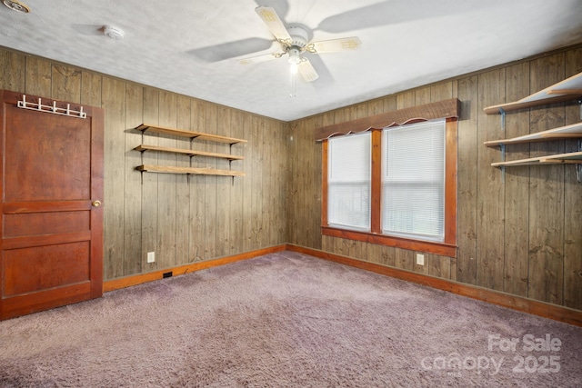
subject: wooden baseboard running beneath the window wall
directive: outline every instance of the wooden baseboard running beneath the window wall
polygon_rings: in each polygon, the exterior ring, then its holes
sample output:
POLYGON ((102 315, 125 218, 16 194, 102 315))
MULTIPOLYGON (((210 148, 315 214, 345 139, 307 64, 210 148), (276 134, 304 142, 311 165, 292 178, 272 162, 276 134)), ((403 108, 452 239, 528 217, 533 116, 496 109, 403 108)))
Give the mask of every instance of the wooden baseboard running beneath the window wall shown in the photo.
POLYGON ((392 268, 381 264, 364 262, 361 260, 353 259, 351 257, 341 256, 339 254, 330 254, 324 251, 306 248, 295 244, 286 244, 286 250, 298 252, 301 254, 309 254, 320 259, 350 265, 366 271, 374 272, 376 274, 384 274, 386 276, 395 277, 407 282, 427 285, 432 288, 448 291, 449 293, 457 293, 459 295, 468 296, 469 298, 477 299, 487 303, 494 303, 520 312, 531 313, 545 318, 550 318, 555 321, 570 323, 582 327, 582 312, 568 307, 558 306, 557 304, 539 302, 533 299, 512 295, 510 293, 502 293, 487 288, 478 287, 476 285, 458 283, 447 279, 428 276, 426 274, 416 274, 411 271, 392 268))

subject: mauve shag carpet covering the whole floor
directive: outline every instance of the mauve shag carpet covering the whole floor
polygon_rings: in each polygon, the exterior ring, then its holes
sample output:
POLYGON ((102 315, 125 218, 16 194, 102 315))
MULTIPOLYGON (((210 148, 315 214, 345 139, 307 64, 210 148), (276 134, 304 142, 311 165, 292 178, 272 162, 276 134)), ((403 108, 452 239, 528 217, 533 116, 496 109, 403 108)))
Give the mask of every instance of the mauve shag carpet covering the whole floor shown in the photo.
POLYGON ((582 328, 293 252, 0 323, 2 387, 581 387, 582 328))

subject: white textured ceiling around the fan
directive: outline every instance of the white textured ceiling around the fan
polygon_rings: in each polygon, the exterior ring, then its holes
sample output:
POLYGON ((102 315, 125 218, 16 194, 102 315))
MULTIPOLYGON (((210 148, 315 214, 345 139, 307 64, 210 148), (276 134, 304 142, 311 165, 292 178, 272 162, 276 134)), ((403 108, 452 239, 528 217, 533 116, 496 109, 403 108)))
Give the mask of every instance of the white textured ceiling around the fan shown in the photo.
POLYGON ((1 46, 283 121, 582 42, 580 0, 22 1, 29 14, 0 5, 1 46), (362 45, 307 53, 319 79, 291 98, 286 58, 236 62, 280 47, 257 5, 362 45))

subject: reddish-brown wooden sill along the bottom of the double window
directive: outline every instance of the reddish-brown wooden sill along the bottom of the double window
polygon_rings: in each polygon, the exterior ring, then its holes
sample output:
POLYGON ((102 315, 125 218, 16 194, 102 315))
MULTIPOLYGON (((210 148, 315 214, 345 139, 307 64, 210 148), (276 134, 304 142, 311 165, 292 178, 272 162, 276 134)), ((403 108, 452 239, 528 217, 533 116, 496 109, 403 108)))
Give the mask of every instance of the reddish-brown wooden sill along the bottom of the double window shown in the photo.
POLYGON ((345 229, 336 229, 329 226, 322 226, 321 233, 331 237, 363 241, 370 244, 395 246, 396 248, 425 252, 427 254, 440 254, 442 256, 457 257, 457 245, 455 244, 410 240, 385 234, 372 234, 366 232, 349 231, 345 229))

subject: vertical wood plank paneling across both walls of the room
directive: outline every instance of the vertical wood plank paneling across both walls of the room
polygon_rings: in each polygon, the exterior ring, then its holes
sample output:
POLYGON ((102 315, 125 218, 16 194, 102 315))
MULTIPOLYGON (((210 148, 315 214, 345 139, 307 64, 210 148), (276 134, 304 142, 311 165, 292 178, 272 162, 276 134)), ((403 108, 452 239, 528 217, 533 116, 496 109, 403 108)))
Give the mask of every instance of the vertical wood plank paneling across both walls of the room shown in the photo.
MULTIPOLYGON (((582 72, 582 46, 541 55, 362 104, 282 123, 0 48, 0 88, 105 108, 105 279, 147 273, 292 243, 582 310, 582 184, 571 165, 507 169, 484 141, 580 121, 576 103, 509 113, 506 133, 491 104, 515 101, 582 72), (457 257, 322 236, 321 144, 316 127, 437 102, 461 101, 458 122, 457 257), (133 151, 142 122, 244 138, 232 168, 245 177, 141 174, 138 164, 188 165, 184 155, 133 151), (146 253, 156 252, 156 263, 146 253)), ((146 144, 188 147, 152 134, 146 144)), ((228 152, 222 144, 196 149, 228 152)), ((577 141, 507 147, 507 160, 577 150, 577 141)), ((193 166, 226 168, 195 158, 193 166)))

